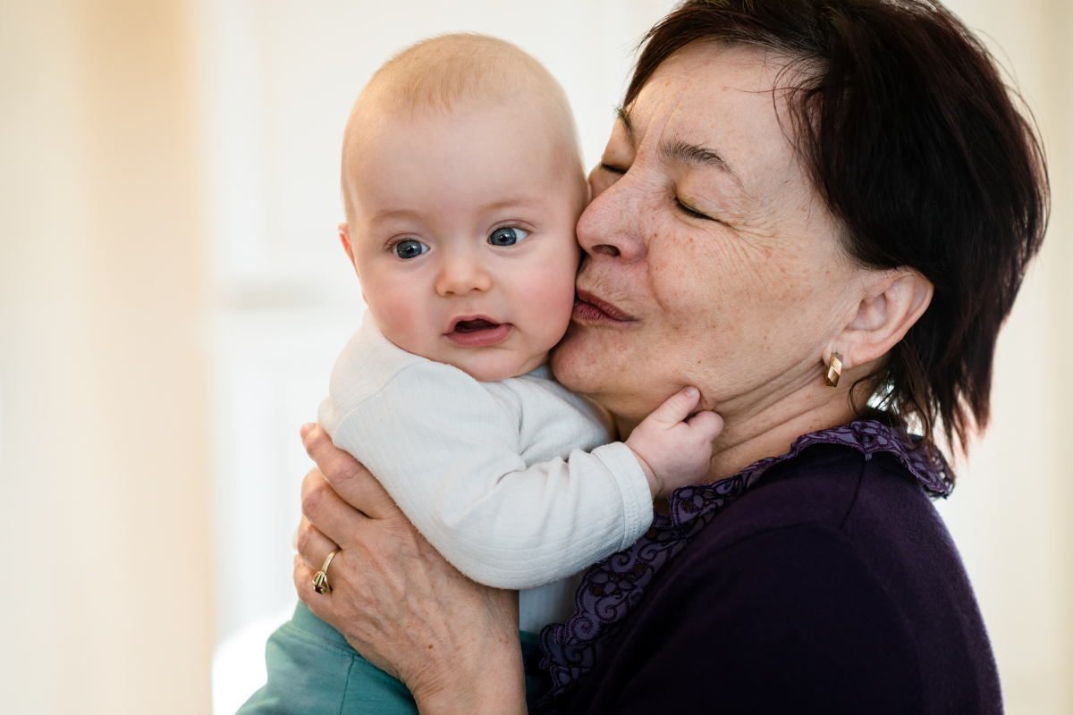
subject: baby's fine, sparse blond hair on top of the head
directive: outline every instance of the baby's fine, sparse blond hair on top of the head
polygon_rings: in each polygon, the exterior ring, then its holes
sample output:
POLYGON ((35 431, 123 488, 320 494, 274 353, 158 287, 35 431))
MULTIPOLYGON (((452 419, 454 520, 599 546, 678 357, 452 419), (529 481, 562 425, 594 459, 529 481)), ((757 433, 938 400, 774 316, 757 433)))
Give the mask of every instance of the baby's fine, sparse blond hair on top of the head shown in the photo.
MULTIPOLYGON (((393 118, 453 113, 524 96, 527 109, 545 113, 556 130, 557 154, 582 177, 577 125, 567 93, 543 64, 499 38, 461 32, 413 44, 377 70, 347 121, 342 194, 350 218, 348 164, 363 133, 393 118)), ((575 177, 576 178, 576 177, 575 177)))

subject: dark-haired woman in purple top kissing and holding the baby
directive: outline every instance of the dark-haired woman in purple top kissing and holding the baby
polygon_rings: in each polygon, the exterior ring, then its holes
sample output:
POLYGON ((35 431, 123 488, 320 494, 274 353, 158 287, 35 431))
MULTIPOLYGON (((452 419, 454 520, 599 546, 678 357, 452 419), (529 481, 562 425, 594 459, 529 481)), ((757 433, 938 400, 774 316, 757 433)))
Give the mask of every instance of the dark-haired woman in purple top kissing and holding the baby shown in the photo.
MULTIPOLYGON (((1000 712, 927 498, 953 487, 940 420, 962 445, 986 422, 1046 223, 1040 148, 979 42, 912 0, 693 0, 650 33, 590 183, 556 375, 623 434, 684 385, 725 429, 709 483, 662 495, 545 629, 534 709, 1000 712)), ((303 601, 423 713, 525 712, 515 595, 303 436, 303 601)))

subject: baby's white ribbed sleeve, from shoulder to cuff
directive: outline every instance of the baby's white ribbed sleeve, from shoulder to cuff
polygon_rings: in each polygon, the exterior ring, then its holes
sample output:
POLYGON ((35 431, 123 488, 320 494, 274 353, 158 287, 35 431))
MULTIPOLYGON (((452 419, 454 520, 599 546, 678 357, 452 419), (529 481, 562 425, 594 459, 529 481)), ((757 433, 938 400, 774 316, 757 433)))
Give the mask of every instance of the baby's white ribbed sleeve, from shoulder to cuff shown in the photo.
MULTIPOLYGON (((333 390, 335 391, 335 390, 333 390)), ((629 447, 526 465, 517 407, 461 371, 408 364, 328 432, 365 464, 421 533, 474 581, 532 589, 633 543, 652 519, 629 447)))

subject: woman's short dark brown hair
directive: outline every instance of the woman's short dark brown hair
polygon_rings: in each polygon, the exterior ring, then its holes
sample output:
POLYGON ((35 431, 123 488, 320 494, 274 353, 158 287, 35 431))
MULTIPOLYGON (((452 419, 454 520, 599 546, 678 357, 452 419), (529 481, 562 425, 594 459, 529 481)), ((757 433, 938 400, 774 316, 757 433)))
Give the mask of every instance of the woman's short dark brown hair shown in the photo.
MULTIPOLYGON (((699 41, 790 60, 793 140, 864 266, 907 266, 931 304, 864 386, 962 448, 987 423, 995 342, 1040 249, 1043 150, 996 62, 939 2, 691 0, 656 26, 626 93, 699 41)), ((780 85, 781 87, 781 85, 780 85)))

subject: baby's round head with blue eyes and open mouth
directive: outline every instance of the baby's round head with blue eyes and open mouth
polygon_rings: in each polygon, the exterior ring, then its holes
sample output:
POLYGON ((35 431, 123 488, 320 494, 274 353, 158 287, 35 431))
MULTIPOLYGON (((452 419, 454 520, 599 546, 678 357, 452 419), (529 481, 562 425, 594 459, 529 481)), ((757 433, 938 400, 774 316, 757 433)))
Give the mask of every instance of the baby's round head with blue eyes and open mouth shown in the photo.
POLYGON ((393 343, 476 379, 545 362, 574 304, 587 184, 562 88, 473 34, 388 61, 347 123, 339 234, 393 343))

